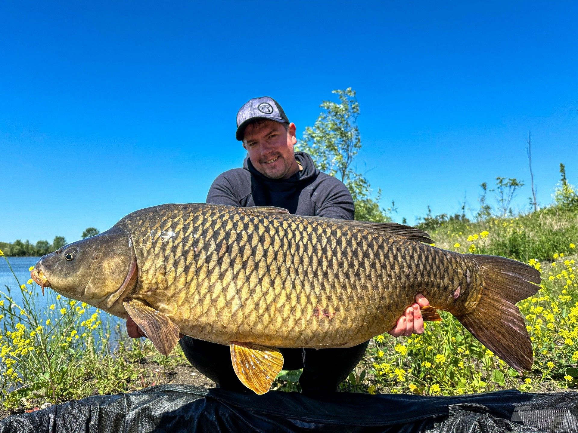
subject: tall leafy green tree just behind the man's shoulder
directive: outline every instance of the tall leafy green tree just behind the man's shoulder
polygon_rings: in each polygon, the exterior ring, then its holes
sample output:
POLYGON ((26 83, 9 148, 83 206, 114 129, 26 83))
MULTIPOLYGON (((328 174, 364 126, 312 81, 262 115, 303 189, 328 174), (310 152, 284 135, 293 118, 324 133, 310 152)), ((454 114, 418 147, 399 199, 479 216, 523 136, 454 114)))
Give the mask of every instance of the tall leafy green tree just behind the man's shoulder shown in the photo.
POLYGON ((361 137, 357 126, 360 113, 355 91, 351 87, 334 90, 339 102, 323 101, 325 110, 313 126, 307 126, 299 149, 310 154, 316 166, 331 176, 339 178, 349 189, 355 204, 355 219, 361 221, 391 221, 389 210, 379 207, 381 191, 370 197, 368 180, 352 167, 355 155, 361 149, 361 137))

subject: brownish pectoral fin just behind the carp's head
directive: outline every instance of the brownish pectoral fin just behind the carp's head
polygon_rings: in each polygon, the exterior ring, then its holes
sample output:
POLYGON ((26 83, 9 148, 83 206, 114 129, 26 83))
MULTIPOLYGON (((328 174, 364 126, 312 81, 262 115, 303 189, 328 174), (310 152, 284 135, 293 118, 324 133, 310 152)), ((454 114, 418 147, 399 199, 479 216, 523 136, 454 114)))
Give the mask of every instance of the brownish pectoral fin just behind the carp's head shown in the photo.
POLYGON ((164 355, 171 353, 179 342, 179 327, 165 314, 140 299, 123 302, 129 316, 164 355))

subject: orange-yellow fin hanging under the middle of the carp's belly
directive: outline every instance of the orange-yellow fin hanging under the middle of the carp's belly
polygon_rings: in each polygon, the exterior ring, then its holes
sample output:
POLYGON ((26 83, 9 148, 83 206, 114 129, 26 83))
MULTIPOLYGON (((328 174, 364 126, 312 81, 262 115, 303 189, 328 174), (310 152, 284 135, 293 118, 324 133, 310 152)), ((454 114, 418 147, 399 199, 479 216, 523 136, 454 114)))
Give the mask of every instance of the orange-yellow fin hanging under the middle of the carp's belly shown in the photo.
POLYGON ((231 360, 239 380, 256 394, 265 394, 283 368, 283 355, 275 348, 231 342, 231 360))

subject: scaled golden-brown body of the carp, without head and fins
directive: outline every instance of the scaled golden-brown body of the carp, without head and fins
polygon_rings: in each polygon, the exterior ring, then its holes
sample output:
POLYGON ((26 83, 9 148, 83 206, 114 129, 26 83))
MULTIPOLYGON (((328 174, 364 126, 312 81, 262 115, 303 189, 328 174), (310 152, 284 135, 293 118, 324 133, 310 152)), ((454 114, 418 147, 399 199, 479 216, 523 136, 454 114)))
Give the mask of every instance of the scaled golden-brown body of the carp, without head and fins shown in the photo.
POLYGON ((353 222, 165 205, 118 225, 137 255, 132 296, 220 344, 353 346, 390 330, 417 293, 466 311, 480 286, 462 256, 353 222))

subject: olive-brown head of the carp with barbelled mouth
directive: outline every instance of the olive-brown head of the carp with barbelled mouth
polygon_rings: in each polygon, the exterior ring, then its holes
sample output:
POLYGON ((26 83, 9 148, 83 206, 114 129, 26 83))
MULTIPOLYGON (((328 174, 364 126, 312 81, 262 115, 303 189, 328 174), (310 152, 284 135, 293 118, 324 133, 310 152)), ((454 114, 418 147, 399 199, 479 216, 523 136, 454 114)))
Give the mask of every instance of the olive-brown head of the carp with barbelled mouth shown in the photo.
POLYGON ((110 229, 43 256, 31 271, 40 285, 103 310, 136 287, 138 271, 132 238, 110 229))

